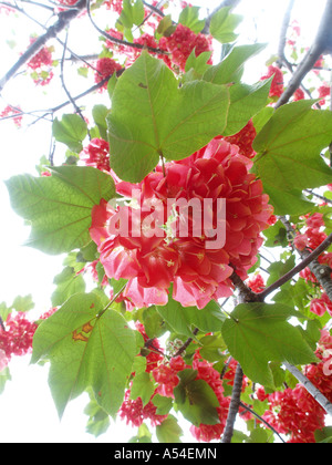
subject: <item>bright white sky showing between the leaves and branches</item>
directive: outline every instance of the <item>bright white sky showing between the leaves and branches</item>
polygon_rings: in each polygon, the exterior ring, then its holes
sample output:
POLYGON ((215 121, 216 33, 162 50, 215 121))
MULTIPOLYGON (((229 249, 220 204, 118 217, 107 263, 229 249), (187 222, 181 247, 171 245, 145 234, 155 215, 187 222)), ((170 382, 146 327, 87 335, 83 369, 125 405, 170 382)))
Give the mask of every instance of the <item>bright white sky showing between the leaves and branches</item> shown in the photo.
MULTIPOLYGON (((194 4, 204 4, 215 8, 219 0, 193 1, 194 4)), ((250 43, 257 38, 258 42, 269 43, 264 54, 258 60, 250 62, 248 74, 252 76, 253 83, 262 75, 263 63, 269 56, 277 52, 280 25, 283 11, 288 0, 266 1, 266 0, 242 0, 241 6, 236 12, 245 16, 241 25, 241 42, 250 43), (255 20, 253 20, 255 19, 255 20)), ((294 8, 294 18, 298 19, 303 34, 308 37, 309 45, 319 24, 324 0, 298 0, 294 8)), ((22 21, 21 25, 17 18, 0 14, 0 78, 8 71, 17 60, 17 51, 23 51, 31 23, 22 21), (14 51, 6 44, 6 41, 14 40, 17 48, 14 51)), ((79 27, 80 22, 77 22, 79 27)), ((75 28, 71 29, 71 37, 75 37, 75 28)), ((33 30, 33 29, 32 29, 33 30)), ((79 53, 94 52, 96 49, 89 46, 91 35, 95 37, 93 29, 84 29, 79 33, 80 43, 74 48, 79 53), (86 46, 89 49, 86 49, 86 46)), ((40 32, 38 27, 35 32, 40 32)), ((77 94, 84 90, 84 80, 76 79, 71 84, 71 90, 77 94)), ((49 97, 42 95, 38 104, 33 93, 33 84, 29 80, 17 79, 9 83, 3 92, 3 101, 0 97, 0 111, 6 106, 6 102, 12 104, 22 103, 27 108, 48 108, 49 97), (28 81, 28 83, 27 83, 28 81), (24 85, 24 86, 23 86, 24 85)), ((97 99, 107 99, 106 96, 97 99)), ((59 102, 66 100, 62 94, 59 102)), ((101 101, 101 100, 100 100, 101 101)), ((106 101, 106 105, 108 102, 106 101)), ((66 107, 68 112, 72 108, 66 107)), ((53 277, 61 272, 63 257, 45 256, 38 250, 22 247, 29 237, 29 228, 10 208, 9 197, 3 180, 9 177, 34 172, 34 165, 39 163, 42 155, 49 153, 50 132, 49 125, 40 122, 29 130, 17 131, 11 121, 0 123, 0 198, 1 198, 1 229, 0 229, 0 302, 11 303, 20 296, 31 293, 35 302, 33 316, 37 318, 49 310, 51 306, 50 296, 54 288, 53 277)), ((29 366, 29 358, 12 360, 10 364, 12 381, 6 386, 6 391, 0 395, 0 442, 126 442, 135 434, 135 430, 128 428, 121 423, 112 425, 107 433, 95 440, 85 433, 87 416, 82 412, 87 403, 87 397, 80 397, 73 401, 63 418, 59 422, 55 407, 46 383, 48 370, 41 366, 29 366)), ((193 442, 188 434, 184 441, 193 442)))

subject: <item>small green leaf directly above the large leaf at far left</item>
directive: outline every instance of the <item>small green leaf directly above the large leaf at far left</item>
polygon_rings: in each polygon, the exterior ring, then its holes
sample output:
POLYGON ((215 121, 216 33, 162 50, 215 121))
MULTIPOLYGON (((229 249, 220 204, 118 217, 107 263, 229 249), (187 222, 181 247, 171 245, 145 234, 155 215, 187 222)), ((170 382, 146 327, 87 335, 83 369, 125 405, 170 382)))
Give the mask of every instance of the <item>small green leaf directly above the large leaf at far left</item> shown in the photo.
POLYGON ((87 125, 79 115, 63 115, 61 121, 55 118, 52 131, 55 141, 62 142, 73 152, 82 151, 82 142, 87 135, 87 125))

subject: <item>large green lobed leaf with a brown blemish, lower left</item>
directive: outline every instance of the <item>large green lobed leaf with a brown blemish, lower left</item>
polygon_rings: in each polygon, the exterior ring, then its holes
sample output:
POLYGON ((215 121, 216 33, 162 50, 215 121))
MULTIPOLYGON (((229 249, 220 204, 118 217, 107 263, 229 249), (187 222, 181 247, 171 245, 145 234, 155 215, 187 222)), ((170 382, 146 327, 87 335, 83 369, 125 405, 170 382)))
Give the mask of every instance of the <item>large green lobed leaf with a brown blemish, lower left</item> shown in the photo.
POLYGON ((103 312, 94 293, 77 293, 44 320, 33 338, 32 363, 50 360, 50 389, 61 417, 89 386, 114 418, 136 355, 135 332, 124 318, 103 312))

